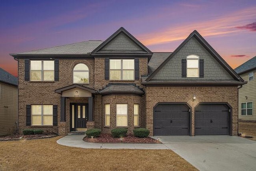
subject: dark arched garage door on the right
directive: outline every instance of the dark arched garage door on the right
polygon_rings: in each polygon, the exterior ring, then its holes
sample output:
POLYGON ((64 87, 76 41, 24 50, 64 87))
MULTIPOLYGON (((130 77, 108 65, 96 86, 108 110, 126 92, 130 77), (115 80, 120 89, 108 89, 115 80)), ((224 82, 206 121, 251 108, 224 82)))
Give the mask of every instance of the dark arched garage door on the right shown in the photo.
POLYGON ((195 109, 195 135, 229 135, 229 108, 225 104, 200 104, 195 109))

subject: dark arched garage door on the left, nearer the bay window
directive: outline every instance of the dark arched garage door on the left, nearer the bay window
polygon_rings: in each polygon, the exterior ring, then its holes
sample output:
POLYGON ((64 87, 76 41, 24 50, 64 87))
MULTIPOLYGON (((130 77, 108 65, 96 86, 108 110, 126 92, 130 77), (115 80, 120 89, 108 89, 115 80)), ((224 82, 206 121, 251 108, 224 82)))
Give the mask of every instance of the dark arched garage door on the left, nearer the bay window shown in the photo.
POLYGON ((154 108, 154 135, 189 135, 189 116, 186 104, 158 104, 154 108))

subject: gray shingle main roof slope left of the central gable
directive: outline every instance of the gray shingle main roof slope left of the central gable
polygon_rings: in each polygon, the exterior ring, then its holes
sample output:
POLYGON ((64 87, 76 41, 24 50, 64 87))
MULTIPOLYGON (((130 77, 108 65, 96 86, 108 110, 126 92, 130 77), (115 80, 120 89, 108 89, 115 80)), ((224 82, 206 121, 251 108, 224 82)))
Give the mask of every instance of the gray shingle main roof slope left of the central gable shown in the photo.
POLYGON ((96 47, 98 47, 103 41, 101 40, 89 40, 78 43, 72 43, 68 45, 50 47, 46 49, 38 49, 34 51, 27 51, 17 54, 87 54, 91 53, 96 47))

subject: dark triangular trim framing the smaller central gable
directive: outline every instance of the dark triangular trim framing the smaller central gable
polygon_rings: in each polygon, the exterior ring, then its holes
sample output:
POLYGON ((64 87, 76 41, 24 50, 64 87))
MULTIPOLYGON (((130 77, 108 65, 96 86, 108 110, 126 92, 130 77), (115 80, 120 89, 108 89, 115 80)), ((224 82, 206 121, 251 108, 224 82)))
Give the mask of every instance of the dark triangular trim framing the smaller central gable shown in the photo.
POLYGON ((102 53, 111 53, 111 55, 120 55, 120 53, 126 53, 126 55, 128 55, 129 53, 131 53, 132 55, 134 55, 134 53, 138 53, 140 55, 152 55, 152 52, 146 47, 144 46, 142 43, 140 43, 140 41, 138 41, 133 35, 131 35, 126 29, 124 28, 120 28, 118 29, 115 33, 113 33, 110 37, 108 37, 108 39, 106 39, 101 45, 99 45, 96 49, 94 49, 92 51, 92 55, 102 55, 102 53), (116 37, 118 37, 119 35, 124 35, 126 36, 128 39, 130 39, 133 43, 135 43, 136 46, 138 46, 138 48, 140 50, 134 50, 134 51, 102 51, 102 49, 104 49, 104 47, 106 47, 106 45, 108 45, 111 41, 113 41, 116 37))

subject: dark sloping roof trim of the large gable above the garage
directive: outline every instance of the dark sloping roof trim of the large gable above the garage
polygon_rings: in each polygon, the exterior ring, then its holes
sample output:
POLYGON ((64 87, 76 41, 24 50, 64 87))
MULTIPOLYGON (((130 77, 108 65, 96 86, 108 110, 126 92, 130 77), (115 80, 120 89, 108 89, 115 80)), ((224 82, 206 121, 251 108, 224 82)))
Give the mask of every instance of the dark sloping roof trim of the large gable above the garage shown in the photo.
POLYGON ((201 45, 224 67, 224 69, 237 81, 244 82, 244 80, 220 57, 220 55, 209 45, 209 43, 196 31, 194 30, 190 35, 178 46, 177 49, 146 79, 150 81, 156 75, 156 73, 172 58, 178 51, 192 38, 198 40, 201 45))

